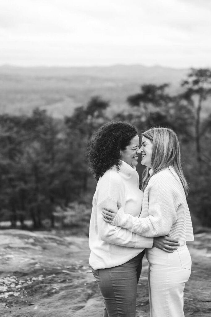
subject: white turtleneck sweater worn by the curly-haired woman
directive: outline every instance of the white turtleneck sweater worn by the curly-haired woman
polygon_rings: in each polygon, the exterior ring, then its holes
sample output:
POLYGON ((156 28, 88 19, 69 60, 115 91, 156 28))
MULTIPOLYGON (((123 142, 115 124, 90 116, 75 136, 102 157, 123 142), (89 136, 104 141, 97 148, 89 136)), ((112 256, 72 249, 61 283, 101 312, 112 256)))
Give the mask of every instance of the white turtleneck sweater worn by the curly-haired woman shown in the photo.
POLYGON ((99 179, 93 197, 90 219, 90 265, 96 270, 121 265, 137 256, 144 248, 152 248, 153 238, 146 238, 127 229, 115 227, 102 219, 102 208, 116 209, 120 201, 125 213, 140 215, 143 192, 135 168, 121 162, 99 179))

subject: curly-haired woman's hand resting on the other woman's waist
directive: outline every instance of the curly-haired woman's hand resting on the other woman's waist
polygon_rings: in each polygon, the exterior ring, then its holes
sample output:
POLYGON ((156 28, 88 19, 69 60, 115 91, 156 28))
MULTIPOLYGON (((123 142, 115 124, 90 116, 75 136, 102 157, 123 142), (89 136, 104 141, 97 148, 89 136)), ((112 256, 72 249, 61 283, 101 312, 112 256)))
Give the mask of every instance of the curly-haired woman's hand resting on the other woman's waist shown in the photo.
POLYGON ((165 252, 172 253, 177 250, 180 243, 177 239, 174 239, 168 234, 167 236, 160 236, 154 238, 153 247, 161 249, 165 252))

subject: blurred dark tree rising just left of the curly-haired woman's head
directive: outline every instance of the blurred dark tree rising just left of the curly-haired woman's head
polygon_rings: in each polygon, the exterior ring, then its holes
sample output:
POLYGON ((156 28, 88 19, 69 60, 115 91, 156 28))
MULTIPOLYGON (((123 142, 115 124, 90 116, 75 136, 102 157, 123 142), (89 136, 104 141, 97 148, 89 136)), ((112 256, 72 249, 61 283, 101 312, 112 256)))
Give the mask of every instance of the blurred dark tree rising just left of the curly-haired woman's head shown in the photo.
POLYGON ((107 107, 109 107, 108 101, 94 96, 85 107, 76 108, 71 117, 65 118, 69 146, 67 157, 69 161, 71 160, 73 167, 71 173, 75 185, 78 184, 83 192, 87 190, 90 175, 86 161, 87 143, 92 133, 108 120, 105 116, 107 107), (75 150, 73 151, 73 149, 75 150))

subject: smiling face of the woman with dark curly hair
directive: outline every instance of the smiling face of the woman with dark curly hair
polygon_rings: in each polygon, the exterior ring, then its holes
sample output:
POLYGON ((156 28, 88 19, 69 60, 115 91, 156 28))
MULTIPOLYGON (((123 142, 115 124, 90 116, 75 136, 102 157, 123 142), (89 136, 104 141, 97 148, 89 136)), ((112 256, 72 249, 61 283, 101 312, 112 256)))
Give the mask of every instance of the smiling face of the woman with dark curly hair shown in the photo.
POLYGON ((138 154, 140 154, 139 136, 136 134, 131 139, 130 144, 126 146, 126 149, 120 150, 121 160, 131 167, 136 166, 138 164, 138 154))

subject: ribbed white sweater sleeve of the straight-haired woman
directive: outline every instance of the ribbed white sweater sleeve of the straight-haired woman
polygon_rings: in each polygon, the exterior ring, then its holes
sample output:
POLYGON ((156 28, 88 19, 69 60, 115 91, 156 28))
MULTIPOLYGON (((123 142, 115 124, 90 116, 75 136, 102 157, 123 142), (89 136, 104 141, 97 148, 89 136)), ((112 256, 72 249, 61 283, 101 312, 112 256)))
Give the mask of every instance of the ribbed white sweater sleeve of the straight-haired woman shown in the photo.
POLYGON ((144 210, 144 204, 142 204, 143 210, 140 217, 125 214, 123 208, 120 208, 111 224, 121 226, 146 237, 167 235, 171 230, 172 224, 177 220, 173 186, 166 179, 160 178, 156 181, 155 178, 151 181, 149 187, 147 217, 141 217, 142 213, 146 211, 144 210))

